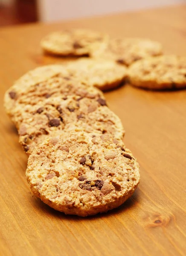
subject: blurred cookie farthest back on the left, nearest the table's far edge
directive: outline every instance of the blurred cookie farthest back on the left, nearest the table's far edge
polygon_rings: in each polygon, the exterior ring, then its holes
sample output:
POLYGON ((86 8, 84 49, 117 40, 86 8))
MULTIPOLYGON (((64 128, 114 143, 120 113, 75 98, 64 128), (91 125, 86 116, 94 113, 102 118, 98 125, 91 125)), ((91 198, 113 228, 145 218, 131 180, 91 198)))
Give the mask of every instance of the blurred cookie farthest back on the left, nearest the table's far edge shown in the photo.
POLYGON ((82 56, 102 48, 107 41, 108 35, 103 33, 89 29, 71 29, 47 35, 41 41, 41 47, 53 55, 82 56))

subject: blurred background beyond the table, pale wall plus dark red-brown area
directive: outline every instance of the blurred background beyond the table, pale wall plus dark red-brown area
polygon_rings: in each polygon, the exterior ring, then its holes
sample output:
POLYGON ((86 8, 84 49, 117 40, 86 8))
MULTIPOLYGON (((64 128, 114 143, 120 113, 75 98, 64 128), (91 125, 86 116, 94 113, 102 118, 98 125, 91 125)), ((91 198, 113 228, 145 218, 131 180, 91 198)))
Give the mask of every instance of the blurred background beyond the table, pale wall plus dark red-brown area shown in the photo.
POLYGON ((186 3, 186 0, 0 0, 0 26, 54 22, 186 3))

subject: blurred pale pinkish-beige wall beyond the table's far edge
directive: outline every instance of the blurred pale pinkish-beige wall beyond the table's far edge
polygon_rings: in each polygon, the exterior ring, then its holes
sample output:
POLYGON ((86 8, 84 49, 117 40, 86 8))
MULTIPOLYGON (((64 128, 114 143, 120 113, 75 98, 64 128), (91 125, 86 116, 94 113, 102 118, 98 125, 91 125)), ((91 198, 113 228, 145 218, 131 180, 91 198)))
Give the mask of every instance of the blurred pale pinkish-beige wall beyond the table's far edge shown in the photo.
POLYGON ((49 22, 178 3, 186 0, 38 0, 38 10, 40 20, 49 22))

